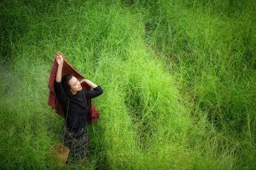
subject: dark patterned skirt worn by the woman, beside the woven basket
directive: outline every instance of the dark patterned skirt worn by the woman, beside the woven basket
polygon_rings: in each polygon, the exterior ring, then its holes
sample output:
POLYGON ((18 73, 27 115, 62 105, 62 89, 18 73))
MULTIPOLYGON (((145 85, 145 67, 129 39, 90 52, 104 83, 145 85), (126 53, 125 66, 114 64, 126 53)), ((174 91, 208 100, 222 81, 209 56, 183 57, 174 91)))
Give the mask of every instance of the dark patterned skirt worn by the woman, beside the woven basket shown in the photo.
POLYGON ((62 139, 64 139, 64 145, 70 149, 69 157, 71 159, 81 160, 88 157, 87 126, 75 130, 65 127, 62 132, 62 139))

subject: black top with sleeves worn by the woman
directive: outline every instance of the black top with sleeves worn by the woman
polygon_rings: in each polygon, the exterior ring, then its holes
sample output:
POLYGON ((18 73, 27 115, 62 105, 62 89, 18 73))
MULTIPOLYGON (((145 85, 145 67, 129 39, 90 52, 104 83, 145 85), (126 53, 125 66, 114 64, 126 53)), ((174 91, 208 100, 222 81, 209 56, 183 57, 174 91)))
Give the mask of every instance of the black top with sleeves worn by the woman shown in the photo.
POLYGON ((103 93, 100 86, 97 86, 93 91, 81 90, 77 91, 73 97, 68 97, 65 93, 61 82, 54 82, 55 93, 58 97, 58 102, 61 103, 64 111, 66 126, 76 129, 86 126, 87 102, 86 99, 92 99, 103 93), (69 102, 68 102, 69 100, 69 102), (68 107, 68 111, 67 111, 68 107))

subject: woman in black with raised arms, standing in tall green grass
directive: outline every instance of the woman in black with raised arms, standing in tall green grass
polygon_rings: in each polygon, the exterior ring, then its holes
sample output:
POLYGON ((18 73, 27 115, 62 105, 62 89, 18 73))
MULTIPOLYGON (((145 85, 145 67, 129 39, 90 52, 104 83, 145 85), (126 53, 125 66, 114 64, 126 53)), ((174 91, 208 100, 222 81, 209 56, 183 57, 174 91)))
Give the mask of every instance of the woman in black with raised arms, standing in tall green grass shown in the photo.
POLYGON ((103 93, 100 86, 88 79, 79 80, 73 75, 61 78, 63 58, 57 55, 58 70, 54 82, 55 93, 61 103, 66 118, 62 137, 64 145, 70 149, 70 156, 75 159, 88 157, 88 132, 86 125, 87 102, 86 99, 97 97, 103 93), (81 83, 85 82, 93 91, 82 90, 81 83))

